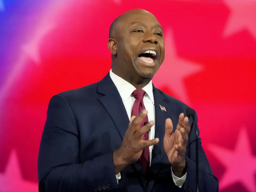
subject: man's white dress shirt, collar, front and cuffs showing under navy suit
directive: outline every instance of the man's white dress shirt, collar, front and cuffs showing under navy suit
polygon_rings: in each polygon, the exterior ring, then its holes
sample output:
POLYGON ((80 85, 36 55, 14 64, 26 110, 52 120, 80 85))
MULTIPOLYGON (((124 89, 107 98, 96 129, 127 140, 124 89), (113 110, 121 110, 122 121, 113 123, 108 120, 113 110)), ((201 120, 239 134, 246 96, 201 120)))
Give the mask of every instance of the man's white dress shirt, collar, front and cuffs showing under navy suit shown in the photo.
MULTIPOLYGON (((110 70, 109 75, 122 98, 123 105, 125 106, 129 120, 131 120, 131 110, 133 109, 133 104, 135 101, 135 98, 131 93, 133 93, 133 91, 136 90, 136 88, 133 85, 131 85, 129 82, 125 81, 121 77, 114 74, 112 72, 112 69, 110 70)), ((142 89, 146 92, 145 96, 143 97, 143 103, 144 103, 145 109, 148 111, 148 122, 155 121, 155 107, 154 107, 152 81, 150 81, 148 85, 146 85, 142 89)), ((154 136, 155 136, 155 125, 152 126, 151 131, 149 132, 149 140, 154 139, 154 136)), ((153 145, 149 147, 149 160, 150 160, 149 165, 151 165, 152 150, 153 150, 153 145)), ((187 173, 185 173, 183 177, 179 178, 172 173, 173 181, 179 187, 181 187, 185 182, 186 176, 187 176, 187 173)), ((121 179, 120 173, 116 174, 117 183, 119 179, 121 179)))

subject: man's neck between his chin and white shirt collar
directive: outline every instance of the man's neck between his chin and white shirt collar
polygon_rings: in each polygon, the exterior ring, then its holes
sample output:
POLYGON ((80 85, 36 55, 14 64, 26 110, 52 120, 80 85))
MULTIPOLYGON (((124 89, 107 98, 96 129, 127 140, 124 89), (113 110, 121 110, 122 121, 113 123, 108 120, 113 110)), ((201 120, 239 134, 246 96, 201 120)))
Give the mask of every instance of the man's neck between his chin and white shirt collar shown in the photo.
POLYGON ((112 72, 117 76, 121 77, 122 79, 124 79, 125 81, 131 83, 131 85, 133 85, 136 89, 142 89, 143 87, 148 85, 148 83, 152 80, 152 78, 141 77, 137 73, 135 75, 130 75, 132 73, 129 72, 123 74, 113 68, 112 72))

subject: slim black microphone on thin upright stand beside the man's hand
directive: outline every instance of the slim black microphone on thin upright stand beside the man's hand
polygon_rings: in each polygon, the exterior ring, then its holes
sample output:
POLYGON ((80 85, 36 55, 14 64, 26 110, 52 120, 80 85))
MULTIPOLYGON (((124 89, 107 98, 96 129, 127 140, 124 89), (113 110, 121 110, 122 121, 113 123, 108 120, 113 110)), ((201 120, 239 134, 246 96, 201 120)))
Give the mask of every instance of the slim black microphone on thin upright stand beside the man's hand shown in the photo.
POLYGON ((188 107, 186 109, 186 112, 187 112, 187 116, 192 120, 194 128, 196 130, 196 187, 197 187, 197 192, 199 192, 199 189, 198 189, 198 182, 199 182, 198 164, 199 163, 198 163, 198 134, 197 134, 197 127, 196 127, 195 122, 194 122, 194 110, 191 109, 190 107, 188 107))

